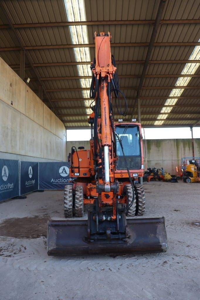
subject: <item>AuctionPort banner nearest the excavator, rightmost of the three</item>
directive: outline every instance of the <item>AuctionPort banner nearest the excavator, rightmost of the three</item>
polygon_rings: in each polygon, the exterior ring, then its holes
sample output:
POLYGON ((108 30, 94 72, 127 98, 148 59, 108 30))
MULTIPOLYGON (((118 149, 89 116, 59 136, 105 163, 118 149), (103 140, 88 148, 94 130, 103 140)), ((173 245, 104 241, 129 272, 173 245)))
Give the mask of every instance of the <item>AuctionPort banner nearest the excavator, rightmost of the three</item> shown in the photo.
POLYGON ((66 184, 71 184, 68 162, 39 163, 39 189, 60 190, 66 184))

